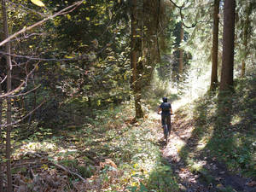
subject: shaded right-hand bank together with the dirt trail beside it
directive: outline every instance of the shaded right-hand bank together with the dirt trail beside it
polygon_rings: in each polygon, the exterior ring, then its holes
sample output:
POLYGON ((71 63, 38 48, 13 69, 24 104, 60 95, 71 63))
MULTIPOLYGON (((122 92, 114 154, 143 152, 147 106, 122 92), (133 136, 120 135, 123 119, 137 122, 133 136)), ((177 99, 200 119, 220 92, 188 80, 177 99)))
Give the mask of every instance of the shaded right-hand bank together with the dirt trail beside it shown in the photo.
POLYGON ((184 191, 256 190, 256 79, 176 111, 163 155, 184 191))

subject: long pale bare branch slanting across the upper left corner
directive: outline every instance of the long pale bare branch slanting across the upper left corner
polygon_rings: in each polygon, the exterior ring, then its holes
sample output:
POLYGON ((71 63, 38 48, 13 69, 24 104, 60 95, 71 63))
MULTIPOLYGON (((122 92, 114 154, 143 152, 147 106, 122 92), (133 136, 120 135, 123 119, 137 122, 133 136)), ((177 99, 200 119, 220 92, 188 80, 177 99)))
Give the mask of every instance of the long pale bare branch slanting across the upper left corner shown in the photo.
POLYGON ((84 0, 82 1, 79 1, 77 3, 73 3, 73 5, 70 5, 68 6, 67 8, 65 9, 61 9, 61 11, 55 13, 54 15, 50 15, 49 17, 45 18, 44 20, 40 20, 38 21, 37 23, 33 24, 32 26, 28 26, 26 28, 23 28, 21 29, 19 32, 15 32, 14 34, 12 34, 11 36, 9 36, 9 38, 6 38, 4 39, 1 43, 0 43, 0 46, 2 46, 3 44, 6 44, 7 42, 9 42, 9 40, 17 37, 18 35, 20 35, 21 33, 23 32, 26 32, 26 31, 29 31, 31 30, 32 28, 36 27, 36 26, 40 26, 42 25, 46 20, 52 20, 54 19, 56 16, 59 16, 59 15, 63 15, 63 14, 67 14, 69 11, 73 11, 73 8, 77 8, 80 4, 82 4, 84 2, 84 0), (71 10, 69 10, 71 9, 71 10), (69 10, 69 11, 68 11, 69 10))

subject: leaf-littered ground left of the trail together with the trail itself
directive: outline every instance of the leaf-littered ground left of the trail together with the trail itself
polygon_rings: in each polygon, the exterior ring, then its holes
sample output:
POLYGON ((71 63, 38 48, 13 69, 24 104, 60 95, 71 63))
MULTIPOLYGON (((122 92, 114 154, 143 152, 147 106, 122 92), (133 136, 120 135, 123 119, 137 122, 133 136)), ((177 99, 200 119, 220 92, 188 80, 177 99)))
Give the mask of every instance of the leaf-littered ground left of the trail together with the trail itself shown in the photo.
POLYGON ((24 141, 13 163, 15 191, 256 190, 255 181, 231 172, 210 150, 202 153, 195 120, 181 110, 172 119, 167 144, 160 115, 148 111, 134 123, 131 113, 124 119, 119 114, 103 122, 106 130, 99 125, 64 129, 61 137, 24 141))

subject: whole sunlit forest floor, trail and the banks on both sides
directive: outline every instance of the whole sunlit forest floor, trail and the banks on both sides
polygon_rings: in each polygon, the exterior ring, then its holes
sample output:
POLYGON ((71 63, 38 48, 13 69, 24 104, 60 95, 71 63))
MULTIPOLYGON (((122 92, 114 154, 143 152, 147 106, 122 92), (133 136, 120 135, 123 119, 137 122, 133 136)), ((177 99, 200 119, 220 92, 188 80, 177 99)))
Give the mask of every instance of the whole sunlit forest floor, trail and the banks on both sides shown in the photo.
POLYGON ((154 99, 137 122, 125 102, 84 125, 40 128, 16 143, 15 191, 255 191, 255 80, 178 108, 167 145, 154 99))

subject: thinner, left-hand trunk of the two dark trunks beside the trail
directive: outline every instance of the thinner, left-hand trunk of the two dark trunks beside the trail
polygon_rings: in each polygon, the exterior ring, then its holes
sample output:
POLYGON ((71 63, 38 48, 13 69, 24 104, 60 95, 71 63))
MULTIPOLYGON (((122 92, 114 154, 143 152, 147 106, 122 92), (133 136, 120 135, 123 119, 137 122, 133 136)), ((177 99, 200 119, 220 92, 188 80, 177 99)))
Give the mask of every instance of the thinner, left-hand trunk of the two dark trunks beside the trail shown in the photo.
POLYGON ((218 13, 219 0, 214 0, 213 38, 212 38, 212 76, 210 90, 216 90, 218 84, 218 13))

